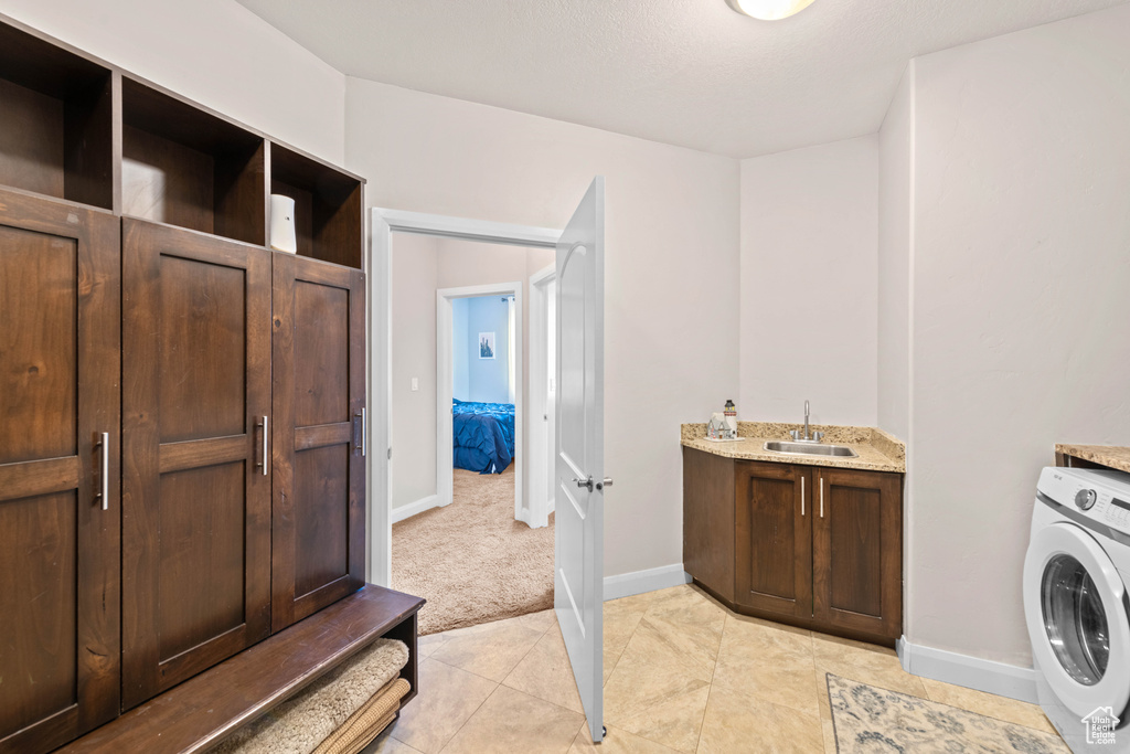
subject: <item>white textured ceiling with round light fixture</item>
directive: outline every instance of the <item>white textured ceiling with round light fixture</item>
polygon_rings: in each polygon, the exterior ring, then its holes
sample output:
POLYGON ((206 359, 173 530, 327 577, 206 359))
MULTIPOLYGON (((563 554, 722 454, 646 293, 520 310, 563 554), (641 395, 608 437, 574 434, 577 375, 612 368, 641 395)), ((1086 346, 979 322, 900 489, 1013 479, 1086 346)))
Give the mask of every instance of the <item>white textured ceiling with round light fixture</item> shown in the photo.
POLYGON ((238 0, 338 70, 733 157, 871 133, 914 55, 1124 0, 238 0))

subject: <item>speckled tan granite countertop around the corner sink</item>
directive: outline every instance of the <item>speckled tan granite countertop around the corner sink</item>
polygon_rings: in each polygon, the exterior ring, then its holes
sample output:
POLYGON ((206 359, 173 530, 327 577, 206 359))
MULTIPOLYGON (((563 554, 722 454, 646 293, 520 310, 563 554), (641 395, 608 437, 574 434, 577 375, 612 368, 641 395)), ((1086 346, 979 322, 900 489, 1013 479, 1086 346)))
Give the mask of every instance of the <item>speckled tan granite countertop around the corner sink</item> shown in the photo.
MULTIPOLYGON (((792 456, 774 453, 765 450, 768 440, 792 440, 790 430, 803 431, 801 424, 779 424, 773 422, 738 422, 738 436, 734 442, 714 442, 706 440, 705 424, 684 424, 681 444, 724 458, 737 458, 750 461, 776 461, 779 463, 799 463, 801 466, 831 466, 841 469, 861 469, 866 471, 906 471, 906 447, 894 436, 876 427, 852 427, 833 425, 811 425, 812 432, 823 432, 828 444, 847 445, 858 458, 835 458, 831 456, 792 456)), ((1130 463, 1130 456, 1127 457, 1130 463)))

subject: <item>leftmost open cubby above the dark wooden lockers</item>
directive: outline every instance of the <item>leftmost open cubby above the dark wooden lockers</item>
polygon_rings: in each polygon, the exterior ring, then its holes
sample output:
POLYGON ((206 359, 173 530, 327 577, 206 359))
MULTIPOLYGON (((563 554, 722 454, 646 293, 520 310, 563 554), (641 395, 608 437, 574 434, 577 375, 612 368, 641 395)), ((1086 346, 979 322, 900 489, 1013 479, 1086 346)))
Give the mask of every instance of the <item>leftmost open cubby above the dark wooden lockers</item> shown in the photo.
POLYGON ((0 25, 0 184, 113 209, 113 79, 0 25))

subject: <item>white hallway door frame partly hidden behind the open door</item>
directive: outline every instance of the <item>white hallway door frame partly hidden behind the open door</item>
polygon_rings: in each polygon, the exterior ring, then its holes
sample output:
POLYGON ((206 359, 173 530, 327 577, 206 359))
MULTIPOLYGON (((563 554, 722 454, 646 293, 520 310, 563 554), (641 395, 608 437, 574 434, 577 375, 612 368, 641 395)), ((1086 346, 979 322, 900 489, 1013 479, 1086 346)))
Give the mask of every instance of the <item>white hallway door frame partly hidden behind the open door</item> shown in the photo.
POLYGON ((525 468, 529 469, 530 494, 529 501, 530 519, 527 521, 531 527, 549 526, 549 514, 554 512, 554 501, 549 500, 549 482, 554 469, 550 463, 549 442, 550 437, 546 433, 544 417, 548 413, 545 385, 549 380, 546 373, 549 361, 549 343, 546 338, 548 318, 546 310, 555 306, 556 301, 550 301, 546 286, 557 279, 557 266, 550 265, 538 270, 530 276, 530 458, 532 461, 525 468), (540 387, 539 387, 540 385, 540 387), (540 459, 540 460, 539 460, 540 459))

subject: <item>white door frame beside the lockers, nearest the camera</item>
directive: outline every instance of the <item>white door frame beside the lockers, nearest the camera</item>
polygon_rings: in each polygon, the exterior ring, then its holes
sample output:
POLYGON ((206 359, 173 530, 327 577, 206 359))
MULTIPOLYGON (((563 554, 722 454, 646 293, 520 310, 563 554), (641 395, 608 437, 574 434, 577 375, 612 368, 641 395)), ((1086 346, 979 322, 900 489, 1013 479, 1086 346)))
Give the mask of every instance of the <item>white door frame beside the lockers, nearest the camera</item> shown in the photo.
MULTIPOLYGON (((392 573, 392 478, 389 474, 392 398, 392 233, 421 233, 449 239, 556 249, 560 229, 492 223, 466 217, 374 207, 368 265, 368 405, 373 421, 366 474, 368 501, 368 580, 388 587, 392 573)), ((516 421, 516 417, 515 417, 516 421)), ((516 430, 516 427, 515 427, 516 430)), ((438 448, 436 449, 438 451, 438 448)))

